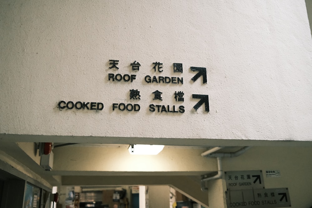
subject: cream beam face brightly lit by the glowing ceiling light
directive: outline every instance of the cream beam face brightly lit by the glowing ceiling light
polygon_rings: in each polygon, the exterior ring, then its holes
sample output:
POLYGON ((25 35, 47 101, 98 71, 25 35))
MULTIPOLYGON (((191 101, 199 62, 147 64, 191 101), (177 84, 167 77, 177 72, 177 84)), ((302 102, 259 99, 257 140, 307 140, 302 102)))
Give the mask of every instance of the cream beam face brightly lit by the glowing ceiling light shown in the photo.
POLYGON ((216 160, 205 158, 205 148, 168 148, 158 155, 130 155, 127 147, 64 146, 53 149, 53 175, 200 175, 216 171, 216 160))

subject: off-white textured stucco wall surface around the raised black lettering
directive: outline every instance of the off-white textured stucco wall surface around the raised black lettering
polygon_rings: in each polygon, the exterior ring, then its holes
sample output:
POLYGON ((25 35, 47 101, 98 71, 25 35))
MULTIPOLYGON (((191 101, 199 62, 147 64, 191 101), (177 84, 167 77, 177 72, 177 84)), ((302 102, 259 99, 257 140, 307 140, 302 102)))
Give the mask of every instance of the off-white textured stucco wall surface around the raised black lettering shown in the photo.
POLYGON ((2 134, 312 140, 304 1, 1 1, 0 30, 2 134), (183 63, 183 74, 173 63, 183 63), (191 81, 191 66, 207 68, 207 84, 191 81), (136 80, 111 82, 109 73, 136 80), (145 75, 184 84, 148 84, 145 75), (141 100, 130 100, 130 89, 141 100), (153 100, 155 90, 163 101, 153 100), (175 91, 185 94, 183 114, 149 111, 181 105, 175 91), (192 94, 209 95, 209 113, 193 110, 192 94), (60 100, 104 109, 60 111, 60 100), (141 109, 112 111, 113 103, 141 109))

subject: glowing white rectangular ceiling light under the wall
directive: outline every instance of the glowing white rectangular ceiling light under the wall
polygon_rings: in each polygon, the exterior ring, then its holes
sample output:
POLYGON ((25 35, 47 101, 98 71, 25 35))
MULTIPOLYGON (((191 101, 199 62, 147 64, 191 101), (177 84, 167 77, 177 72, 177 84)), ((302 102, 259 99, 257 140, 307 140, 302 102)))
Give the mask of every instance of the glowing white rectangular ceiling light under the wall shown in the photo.
POLYGON ((130 144, 128 150, 132 155, 157 155, 164 145, 130 144))

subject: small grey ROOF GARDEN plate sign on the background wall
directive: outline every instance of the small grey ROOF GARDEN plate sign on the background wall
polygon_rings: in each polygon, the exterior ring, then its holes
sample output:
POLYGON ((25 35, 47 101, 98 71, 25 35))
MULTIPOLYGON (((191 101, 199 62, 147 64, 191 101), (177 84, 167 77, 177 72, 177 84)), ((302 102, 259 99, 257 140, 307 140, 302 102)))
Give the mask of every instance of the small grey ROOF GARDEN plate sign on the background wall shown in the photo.
POLYGON ((224 172, 227 190, 264 188, 261 170, 224 172))

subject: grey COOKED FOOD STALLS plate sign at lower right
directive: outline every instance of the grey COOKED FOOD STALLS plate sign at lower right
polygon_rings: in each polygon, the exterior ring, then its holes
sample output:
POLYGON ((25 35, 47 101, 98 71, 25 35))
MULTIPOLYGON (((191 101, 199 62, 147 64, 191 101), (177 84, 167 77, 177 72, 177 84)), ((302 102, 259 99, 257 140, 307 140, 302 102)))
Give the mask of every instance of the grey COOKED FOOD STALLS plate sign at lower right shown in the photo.
POLYGON ((227 207, 290 207, 288 188, 226 191, 227 207))

